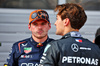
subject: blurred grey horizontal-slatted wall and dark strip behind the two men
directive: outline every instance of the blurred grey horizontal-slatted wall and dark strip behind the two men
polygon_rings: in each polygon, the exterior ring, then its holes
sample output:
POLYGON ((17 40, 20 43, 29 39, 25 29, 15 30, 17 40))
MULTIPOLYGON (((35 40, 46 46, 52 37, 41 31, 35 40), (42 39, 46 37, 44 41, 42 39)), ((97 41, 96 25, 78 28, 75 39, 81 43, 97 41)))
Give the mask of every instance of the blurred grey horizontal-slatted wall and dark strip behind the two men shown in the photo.
POLYGON ((55 35, 54 8, 63 3, 78 3, 83 6, 88 18, 80 33, 93 41, 96 30, 100 27, 100 0, 0 0, 0 66, 6 62, 14 42, 31 36, 28 30, 29 14, 36 9, 44 9, 49 13, 52 27, 49 37, 61 38, 55 35))

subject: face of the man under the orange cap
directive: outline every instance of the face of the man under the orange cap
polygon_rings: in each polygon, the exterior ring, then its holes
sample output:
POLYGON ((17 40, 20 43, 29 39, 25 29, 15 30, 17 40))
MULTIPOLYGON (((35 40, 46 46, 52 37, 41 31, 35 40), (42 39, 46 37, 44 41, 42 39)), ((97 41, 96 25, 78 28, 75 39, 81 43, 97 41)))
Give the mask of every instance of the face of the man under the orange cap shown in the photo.
POLYGON ((32 32, 32 36, 38 39, 48 36, 48 30, 51 28, 51 24, 44 20, 38 20, 29 25, 29 30, 32 32))

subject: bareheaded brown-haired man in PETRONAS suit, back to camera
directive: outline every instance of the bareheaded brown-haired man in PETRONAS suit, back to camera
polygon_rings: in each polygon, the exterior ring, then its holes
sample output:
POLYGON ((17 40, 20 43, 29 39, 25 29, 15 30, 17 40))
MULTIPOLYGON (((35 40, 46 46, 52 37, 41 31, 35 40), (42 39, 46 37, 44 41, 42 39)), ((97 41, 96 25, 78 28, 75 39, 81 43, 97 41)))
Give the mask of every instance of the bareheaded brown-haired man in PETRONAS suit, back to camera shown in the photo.
POLYGON ((87 16, 79 4, 57 5, 56 34, 63 36, 45 47, 40 66, 100 66, 100 49, 79 33, 87 16))

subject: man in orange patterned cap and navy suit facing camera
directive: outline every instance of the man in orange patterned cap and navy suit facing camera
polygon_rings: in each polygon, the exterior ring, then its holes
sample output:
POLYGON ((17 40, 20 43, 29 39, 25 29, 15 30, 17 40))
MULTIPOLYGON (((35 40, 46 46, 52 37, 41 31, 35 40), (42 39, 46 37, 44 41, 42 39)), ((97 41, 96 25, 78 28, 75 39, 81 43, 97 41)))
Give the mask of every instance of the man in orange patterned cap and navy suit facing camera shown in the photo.
POLYGON ((48 36, 51 23, 44 10, 30 13, 28 28, 32 36, 13 44, 8 66, 38 66, 46 44, 53 40, 48 36))

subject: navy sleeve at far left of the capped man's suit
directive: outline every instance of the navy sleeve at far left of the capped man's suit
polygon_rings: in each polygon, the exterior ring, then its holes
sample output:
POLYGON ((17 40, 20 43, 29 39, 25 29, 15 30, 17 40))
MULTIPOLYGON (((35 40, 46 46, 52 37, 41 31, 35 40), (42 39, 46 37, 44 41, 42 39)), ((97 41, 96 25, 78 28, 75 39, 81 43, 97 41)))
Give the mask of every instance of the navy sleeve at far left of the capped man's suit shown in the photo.
POLYGON ((13 45, 10 51, 10 54, 7 58, 7 65, 8 66, 18 66, 16 58, 16 45, 13 45))

